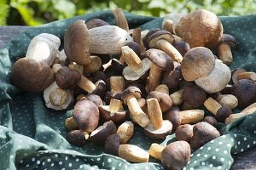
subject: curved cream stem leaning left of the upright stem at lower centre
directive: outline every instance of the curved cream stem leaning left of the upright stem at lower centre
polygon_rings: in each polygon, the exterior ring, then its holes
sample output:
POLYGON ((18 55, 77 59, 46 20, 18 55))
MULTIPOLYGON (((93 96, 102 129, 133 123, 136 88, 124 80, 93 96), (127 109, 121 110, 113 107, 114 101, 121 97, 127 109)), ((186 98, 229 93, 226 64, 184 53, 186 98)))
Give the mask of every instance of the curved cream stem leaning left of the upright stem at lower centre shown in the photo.
POLYGON ((149 118, 138 105, 137 99, 133 95, 129 95, 127 97, 127 105, 131 119, 137 122, 141 127, 146 127, 148 125, 149 118))

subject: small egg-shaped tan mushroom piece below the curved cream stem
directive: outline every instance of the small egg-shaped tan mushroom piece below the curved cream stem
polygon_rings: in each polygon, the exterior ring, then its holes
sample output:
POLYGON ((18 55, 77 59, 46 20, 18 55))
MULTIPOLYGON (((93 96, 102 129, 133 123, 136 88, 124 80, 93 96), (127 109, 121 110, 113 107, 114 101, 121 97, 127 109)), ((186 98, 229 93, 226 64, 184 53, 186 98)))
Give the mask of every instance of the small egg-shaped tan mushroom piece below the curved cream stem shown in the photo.
POLYGON ((134 133, 134 124, 131 121, 123 122, 116 133, 119 134, 119 143, 126 144, 134 133))

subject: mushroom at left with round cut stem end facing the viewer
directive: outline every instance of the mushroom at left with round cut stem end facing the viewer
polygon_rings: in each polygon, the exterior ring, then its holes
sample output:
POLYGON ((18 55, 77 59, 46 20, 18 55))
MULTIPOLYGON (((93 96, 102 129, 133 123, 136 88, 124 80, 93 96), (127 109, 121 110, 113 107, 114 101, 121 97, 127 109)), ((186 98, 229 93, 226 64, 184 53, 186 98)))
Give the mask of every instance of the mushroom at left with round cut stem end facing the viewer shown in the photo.
POLYGON ((44 89, 45 105, 55 111, 66 110, 73 103, 73 91, 71 89, 61 89, 56 82, 52 82, 44 89))

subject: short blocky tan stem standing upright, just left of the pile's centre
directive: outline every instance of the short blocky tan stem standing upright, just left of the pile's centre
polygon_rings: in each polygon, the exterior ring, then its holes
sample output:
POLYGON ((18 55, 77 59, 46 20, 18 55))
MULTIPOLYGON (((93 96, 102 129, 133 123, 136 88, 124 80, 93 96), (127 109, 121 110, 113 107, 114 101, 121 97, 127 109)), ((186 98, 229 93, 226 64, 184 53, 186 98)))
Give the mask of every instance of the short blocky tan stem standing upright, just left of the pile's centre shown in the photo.
POLYGON ((110 77, 109 81, 111 94, 122 94, 125 91, 124 77, 110 77))

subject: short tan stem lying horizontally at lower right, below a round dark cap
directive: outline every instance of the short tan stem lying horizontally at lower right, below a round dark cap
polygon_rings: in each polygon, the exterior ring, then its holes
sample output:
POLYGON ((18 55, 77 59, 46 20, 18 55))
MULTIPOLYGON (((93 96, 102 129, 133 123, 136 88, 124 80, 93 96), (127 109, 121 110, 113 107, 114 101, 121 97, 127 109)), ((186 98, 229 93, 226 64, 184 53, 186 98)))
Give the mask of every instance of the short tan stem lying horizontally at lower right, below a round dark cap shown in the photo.
POLYGON ((205 115, 204 110, 187 110, 187 111, 179 111, 179 117, 181 120, 181 124, 192 124, 196 122, 201 122, 205 115))

